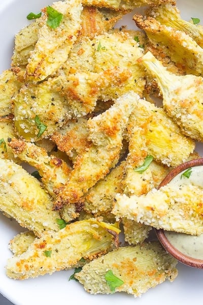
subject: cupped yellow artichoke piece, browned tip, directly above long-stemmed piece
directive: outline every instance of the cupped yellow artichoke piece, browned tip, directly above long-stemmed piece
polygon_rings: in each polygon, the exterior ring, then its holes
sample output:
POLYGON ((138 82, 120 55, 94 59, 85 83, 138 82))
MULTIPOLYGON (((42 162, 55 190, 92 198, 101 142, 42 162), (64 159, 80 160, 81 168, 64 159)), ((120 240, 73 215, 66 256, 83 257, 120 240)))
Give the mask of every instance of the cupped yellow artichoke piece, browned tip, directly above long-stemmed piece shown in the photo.
POLYGON ((160 24, 155 18, 135 14, 133 20, 143 29, 150 43, 171 60, 185 74, 203 74, 203 49, 186 33, 160 24))

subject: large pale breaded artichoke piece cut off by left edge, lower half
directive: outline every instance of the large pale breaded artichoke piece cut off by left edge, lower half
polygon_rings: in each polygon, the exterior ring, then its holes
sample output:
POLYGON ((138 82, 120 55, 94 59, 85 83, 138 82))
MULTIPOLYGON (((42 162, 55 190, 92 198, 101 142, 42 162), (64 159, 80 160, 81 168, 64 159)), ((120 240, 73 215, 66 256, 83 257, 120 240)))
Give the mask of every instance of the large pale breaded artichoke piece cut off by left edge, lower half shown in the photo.
POLYGON ((0 210, 37 236, 58 231, 60 216, 40 182, 10 160, 0 159, 0 165, 0 210))

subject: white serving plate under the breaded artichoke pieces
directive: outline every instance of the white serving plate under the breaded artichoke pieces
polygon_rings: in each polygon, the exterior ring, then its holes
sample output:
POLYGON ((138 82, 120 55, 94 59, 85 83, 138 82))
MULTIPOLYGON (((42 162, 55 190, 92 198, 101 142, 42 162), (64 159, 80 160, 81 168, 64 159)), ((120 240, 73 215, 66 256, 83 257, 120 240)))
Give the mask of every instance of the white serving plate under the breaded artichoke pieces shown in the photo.
MULTIPOLYGON (((26 15, 29 12, 39 12, 43 6, 51 4, 50 0, 1 0, 0 1, 0 73, 10 67, 14 35, 28 22, 26 15)), ((184 19, 198 17, 203 20, 202 0, 177 0, 184 19)), ((123 18, 121 24, 127 24, 133 28, 134 23, 130 20, 131 15, 123 18)), ((197 144, 199 153, 203 156, 201 144, 197 144)), ((178 264, 179 276, 170 283, 166 281, 153 289, 148 290, 141 298, 134 298, 125 293, 112 295, 90 295, 83 287, 70 281, 73 273, 70 271, 59 271, 53 275, 29 279, 25 281, 14 281, 6 277, 5 265, 11 257, 8 250, 8 242, 22 229, 15 221, 7 219, 0 213, 0 292, 16 305, 56 305, 60 303, 89 304, 89 305, 131 305, 150 304, 164 305, 199 303, 202 299, 203 270, 178 264)))

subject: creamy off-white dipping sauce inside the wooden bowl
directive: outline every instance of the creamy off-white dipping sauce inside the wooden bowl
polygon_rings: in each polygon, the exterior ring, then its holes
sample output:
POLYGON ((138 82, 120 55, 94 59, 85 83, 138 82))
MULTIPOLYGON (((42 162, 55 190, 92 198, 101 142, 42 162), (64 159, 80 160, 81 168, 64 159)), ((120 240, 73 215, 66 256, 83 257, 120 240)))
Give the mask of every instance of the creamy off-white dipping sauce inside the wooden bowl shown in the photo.
MULTIPOLYGON (((186 175, 182 175, 185 172, 186 170, 180 172, 169 182, 169 184, 175 184, 178 186, 187 184, 203 188, 202 165, 191 167, 191 173, 189 174, 188 178, 186 175)), ((181 253, 193 258, 203 260, 203 234, 195 236, 172 231, 164 231, 164 234, 166 235, 167 239, 170 240, 172 245, 181 253)))

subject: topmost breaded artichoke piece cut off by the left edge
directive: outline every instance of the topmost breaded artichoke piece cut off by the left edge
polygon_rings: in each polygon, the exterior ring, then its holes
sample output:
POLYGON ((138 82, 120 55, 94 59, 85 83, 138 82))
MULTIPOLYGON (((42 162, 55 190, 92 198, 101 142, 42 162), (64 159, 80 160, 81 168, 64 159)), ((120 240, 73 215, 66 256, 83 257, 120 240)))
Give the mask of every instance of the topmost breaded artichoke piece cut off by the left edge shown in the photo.
POLYGON ((12 98, 18 93, 21 83, 11 70, 5 70, 0 75, 0 117, 13 113, 12 98))

